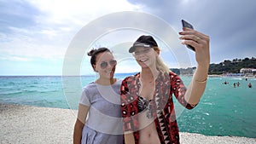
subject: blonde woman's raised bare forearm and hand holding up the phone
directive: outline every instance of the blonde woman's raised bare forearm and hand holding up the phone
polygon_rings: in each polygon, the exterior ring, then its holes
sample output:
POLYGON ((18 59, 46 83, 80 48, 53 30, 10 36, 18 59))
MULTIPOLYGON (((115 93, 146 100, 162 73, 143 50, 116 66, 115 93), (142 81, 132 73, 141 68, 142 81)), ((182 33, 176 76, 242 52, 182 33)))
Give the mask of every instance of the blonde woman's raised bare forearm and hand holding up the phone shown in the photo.
POLYGON ((185 94, 185 100, 189 104, 195 105, 200 101, 207 85, 210 64, 210 38, 189 28, 183 28, 183 32, 179 32, 179 34, 181 35, 180 39, 184 40, 183 44, 189 44, 195 48, 197 66, 185 94))

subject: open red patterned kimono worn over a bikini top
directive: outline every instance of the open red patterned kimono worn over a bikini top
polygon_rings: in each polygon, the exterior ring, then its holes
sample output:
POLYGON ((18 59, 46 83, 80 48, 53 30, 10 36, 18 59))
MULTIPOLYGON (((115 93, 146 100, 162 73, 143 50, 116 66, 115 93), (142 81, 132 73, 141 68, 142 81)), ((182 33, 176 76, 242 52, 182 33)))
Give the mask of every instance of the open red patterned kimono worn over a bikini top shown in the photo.
MULTIPOLYGON (((138 123, 138 94, 141 84, 139 82, 140 73, 127 77, 121 85, 121 112, 123 117, 124 132, 133 132, 135 143, 139 143, 139 123, 138 123)), ((155 80, 155 90, 152 102, 152 110, 155 128, 158 132, 161 144, 179 143, 176 114, 172 100, 172 94, 177 101, 192 109, 195 105, 189 105, 184 100, 186 88, 181 78, 174 72, 162 74, 160 72, 155 80)))

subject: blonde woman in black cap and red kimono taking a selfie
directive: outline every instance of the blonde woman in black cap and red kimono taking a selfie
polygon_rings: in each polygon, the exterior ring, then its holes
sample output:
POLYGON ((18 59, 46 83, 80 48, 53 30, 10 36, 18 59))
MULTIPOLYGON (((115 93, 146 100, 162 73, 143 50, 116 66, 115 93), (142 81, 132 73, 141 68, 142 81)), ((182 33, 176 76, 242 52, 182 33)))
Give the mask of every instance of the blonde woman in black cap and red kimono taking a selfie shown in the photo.
POLYGON ((126 144, 179 143, 172 95, 188 109, 194 108, 203 95, 210 63, 209 37, 189 28, 183 28, 179 34, 183 44, 195 48, 197 67, 188 89, 160 60, 154 37, 143 35, 129 49, 141 72, 125 78, 121 85, 126 144))

